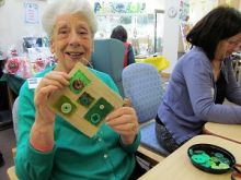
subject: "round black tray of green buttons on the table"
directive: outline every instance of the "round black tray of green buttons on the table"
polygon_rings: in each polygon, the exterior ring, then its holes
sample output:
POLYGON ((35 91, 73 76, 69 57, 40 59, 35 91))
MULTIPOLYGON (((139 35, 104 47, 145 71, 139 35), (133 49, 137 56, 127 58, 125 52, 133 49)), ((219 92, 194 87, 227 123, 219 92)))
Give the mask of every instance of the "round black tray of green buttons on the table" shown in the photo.
POLYGON ((227 149, 211 145, 211 144, 195 144, 192 145, 187 151, 188 157, 192 164, 198 169, 210 172, 210 173, 225 173, 231 170, 232 166, 236 164, 234 156, 227 149), (203 154, 205 153, 205 154, 203 154), (193 155, 202 155, 193 156, 193 155), (208 156, 210 157, 209 160, 208 156), (214 165, 213 167, 209 166, 214 165), (225 164, 222 168, 219 167, 220 164, 225 164), (226 165, 228 165, 226 167, 226 165))

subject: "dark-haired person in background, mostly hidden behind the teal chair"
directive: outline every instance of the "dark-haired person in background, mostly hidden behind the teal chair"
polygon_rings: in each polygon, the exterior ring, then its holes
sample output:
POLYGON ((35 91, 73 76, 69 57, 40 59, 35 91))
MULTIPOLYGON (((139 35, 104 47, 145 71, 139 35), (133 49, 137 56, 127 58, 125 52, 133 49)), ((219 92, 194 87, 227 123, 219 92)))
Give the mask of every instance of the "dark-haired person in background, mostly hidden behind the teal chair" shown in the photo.
POLYGON ((123 67, 127 67, 130 63, 135 63, 135 56, 133 51, 133 47, 129 43, 127 43, 127 32, 126 29, 122 26, 118 25, 112 31, 111 38, 118 39, 124 43, 125 46, 125 55, 124 55, 124 61, 123 61, 123 67))

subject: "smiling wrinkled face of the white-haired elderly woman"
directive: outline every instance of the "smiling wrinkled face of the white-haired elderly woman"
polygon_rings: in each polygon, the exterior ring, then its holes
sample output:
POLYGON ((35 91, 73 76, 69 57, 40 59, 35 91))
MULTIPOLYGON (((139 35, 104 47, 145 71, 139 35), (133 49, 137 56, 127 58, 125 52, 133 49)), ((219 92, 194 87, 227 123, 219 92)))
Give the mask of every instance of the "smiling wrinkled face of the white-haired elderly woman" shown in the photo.
POLYGON ((87 19, 81 14, 58 16, 50 37, 50 50, 57 58, 58 71, 68 73, 77 62, 87 64, 93 51, 93 37, 87 19))

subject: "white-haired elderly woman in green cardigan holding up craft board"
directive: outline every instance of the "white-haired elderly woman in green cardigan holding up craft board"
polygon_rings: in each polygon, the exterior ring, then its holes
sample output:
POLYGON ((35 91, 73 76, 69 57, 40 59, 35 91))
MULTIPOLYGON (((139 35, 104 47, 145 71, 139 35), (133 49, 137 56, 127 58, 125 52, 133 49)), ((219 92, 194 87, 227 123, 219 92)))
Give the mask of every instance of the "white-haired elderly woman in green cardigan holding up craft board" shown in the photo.
MULTIPOLYGON (((43 79, 36 89, 27 83, 21 88, 16 176, 21 180, 136 179, 140 136, 131 107, 111 112, 90 139, 46 106, 50 94, 69 85, 68 73, 74 64, 89 63, 96 32, 92 8, 87 0, 56 1, 44 12, 43 26, 57 65, 37 75, 43 79)), ((117 92, 107 74, 90 71, 117 92)))

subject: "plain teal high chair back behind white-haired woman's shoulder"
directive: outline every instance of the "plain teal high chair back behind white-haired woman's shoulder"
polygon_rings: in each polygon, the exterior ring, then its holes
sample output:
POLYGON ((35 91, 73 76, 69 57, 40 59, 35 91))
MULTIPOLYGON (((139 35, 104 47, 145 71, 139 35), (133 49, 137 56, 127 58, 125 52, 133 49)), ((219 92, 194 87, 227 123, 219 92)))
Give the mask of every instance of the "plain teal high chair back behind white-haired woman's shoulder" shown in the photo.
POLYGON ((95 39, 92 55, 93 68, 107 73, 117 85, 120 95, 124 95, 122 85, 123 59, 125 47, 118 39, 95 39))

